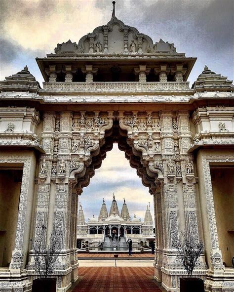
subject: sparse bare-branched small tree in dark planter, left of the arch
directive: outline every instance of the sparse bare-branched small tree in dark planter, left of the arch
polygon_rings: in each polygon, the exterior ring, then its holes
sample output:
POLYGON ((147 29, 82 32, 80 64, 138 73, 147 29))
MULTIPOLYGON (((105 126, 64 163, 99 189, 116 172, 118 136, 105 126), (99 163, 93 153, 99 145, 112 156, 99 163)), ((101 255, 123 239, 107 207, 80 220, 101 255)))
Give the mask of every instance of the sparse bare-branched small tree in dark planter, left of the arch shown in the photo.
POLYGON ((45 234, 47 227, 41 225, 40 238, 41 241, 37 245, 33 245, 33 256, 35 260, 35 270, 39 273, 39 278, 48 278, 53 273, 56 259, 61 250, 61 243, 56 233, 52 232, 49 244, 45 243, 45 234))

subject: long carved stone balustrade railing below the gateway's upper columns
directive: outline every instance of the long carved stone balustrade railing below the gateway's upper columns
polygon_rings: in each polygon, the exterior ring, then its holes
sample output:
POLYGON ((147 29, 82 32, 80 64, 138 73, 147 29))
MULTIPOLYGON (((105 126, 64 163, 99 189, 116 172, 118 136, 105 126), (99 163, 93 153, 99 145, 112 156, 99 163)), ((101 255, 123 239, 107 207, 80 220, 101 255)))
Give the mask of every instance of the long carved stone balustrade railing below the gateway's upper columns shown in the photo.
POLYGON ((189 82, 43 82, 43 88, 49 92, 160 92, 179 91, 191 92, 189 82))

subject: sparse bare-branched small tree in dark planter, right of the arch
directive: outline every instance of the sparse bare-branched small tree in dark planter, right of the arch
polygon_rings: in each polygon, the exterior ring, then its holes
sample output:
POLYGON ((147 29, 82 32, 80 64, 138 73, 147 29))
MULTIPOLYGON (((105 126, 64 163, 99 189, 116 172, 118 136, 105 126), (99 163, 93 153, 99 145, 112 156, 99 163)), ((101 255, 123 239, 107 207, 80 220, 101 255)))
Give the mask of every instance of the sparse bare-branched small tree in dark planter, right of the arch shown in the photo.
POLYGON ((204 245, 188 232, 181 232, 183 239, 178 242, 177 258, 183 263, 189 278, 192 278, 194 268, 199 265, 198 258, 203 253, 204 245))

